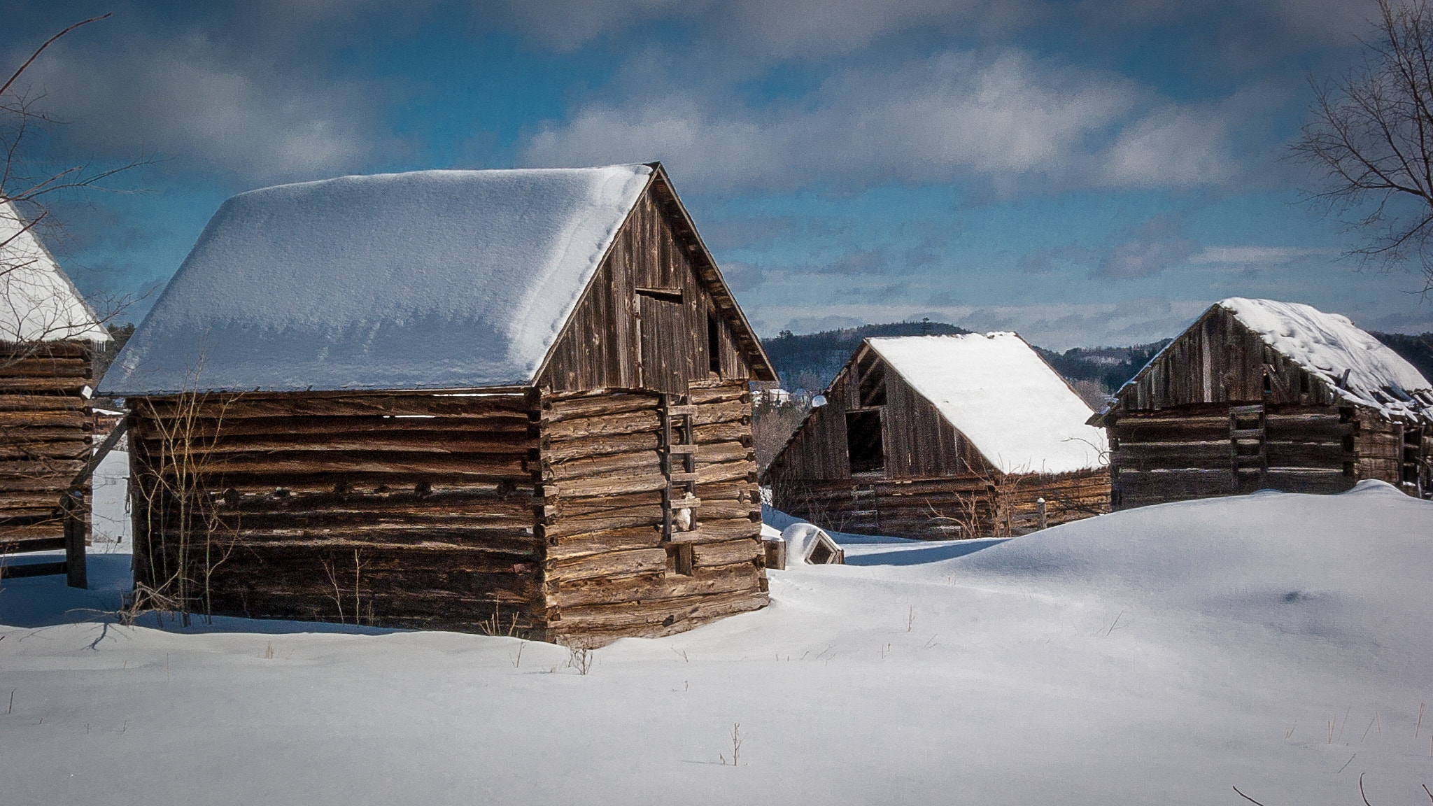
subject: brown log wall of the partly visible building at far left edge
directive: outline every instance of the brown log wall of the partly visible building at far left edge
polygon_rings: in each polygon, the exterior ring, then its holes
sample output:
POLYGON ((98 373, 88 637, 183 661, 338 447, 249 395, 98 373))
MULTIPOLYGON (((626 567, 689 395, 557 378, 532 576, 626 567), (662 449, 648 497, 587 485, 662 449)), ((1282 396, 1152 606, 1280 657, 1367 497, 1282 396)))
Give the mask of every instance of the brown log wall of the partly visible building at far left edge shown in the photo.
POLYGON ((64 548, 57 506, 90 453, 92 361, 89 341, 0 344, 0 555, 64 548))

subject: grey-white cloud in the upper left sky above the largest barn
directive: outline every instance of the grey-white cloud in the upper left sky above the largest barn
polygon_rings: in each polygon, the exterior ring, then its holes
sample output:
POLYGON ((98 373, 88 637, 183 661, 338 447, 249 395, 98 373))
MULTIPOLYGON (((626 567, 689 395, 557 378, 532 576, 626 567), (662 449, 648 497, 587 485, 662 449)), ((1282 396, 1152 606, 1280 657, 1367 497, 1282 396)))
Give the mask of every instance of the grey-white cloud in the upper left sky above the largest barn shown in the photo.
POLYGON ((377 151, 371 93, 196 33, 52 47, 26 79, 69 122, 60 136, 100 158, 153 152, 183 169, 278 181, 361 169, 377 151))

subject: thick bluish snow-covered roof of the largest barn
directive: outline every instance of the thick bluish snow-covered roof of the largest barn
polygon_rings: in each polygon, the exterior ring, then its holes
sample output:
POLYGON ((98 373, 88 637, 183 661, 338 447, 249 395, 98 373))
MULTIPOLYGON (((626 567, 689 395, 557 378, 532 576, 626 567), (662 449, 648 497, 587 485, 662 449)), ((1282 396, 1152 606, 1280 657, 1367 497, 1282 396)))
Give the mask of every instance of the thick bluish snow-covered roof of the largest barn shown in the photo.
POLYGON ((651 175, 420 171, 239 194, 100 390, 530 383, 651 175))

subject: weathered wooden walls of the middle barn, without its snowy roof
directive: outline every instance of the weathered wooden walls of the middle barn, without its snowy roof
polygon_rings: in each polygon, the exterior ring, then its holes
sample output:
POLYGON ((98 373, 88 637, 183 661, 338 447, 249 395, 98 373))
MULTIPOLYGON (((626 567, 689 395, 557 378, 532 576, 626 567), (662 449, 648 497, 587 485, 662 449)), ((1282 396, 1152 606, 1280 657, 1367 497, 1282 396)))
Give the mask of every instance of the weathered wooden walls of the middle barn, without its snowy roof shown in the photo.
POLYGON ((950 539, 1020 535, 1037 528, 1036 501, 1053 526, 1109 511, 1109 473, 1000 473, 970 440, 868 347, 831 381, 827 404, 767 469, 772 505, 827 529, 950 539), (861 370, 884 376, 886 466, 853 478, 845 413, 860 407, 861 370))

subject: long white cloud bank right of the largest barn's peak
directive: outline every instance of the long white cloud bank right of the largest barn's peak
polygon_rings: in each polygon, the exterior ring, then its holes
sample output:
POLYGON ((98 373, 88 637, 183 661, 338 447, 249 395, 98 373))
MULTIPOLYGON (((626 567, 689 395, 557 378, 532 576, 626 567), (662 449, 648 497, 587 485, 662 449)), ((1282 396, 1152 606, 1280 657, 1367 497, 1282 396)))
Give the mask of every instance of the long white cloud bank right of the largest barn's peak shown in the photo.
POLYGON ((721 87, 631 90, 547 125, 520 159, 662 159, 684 182, 716 191, 921 184, 957 175, 983 176, 1006 191, 1030 181, 1184 186, 1231 175, 1218 123, 1199 123, 1172 105, 1141 118, 1146 96, 1121 76, 1020 52, 993 59, 946 52, 897 67, 850 67, 804 98, 759 108, 721 87), (1121 129, 1103 152, 1098 143, 1121 129))

